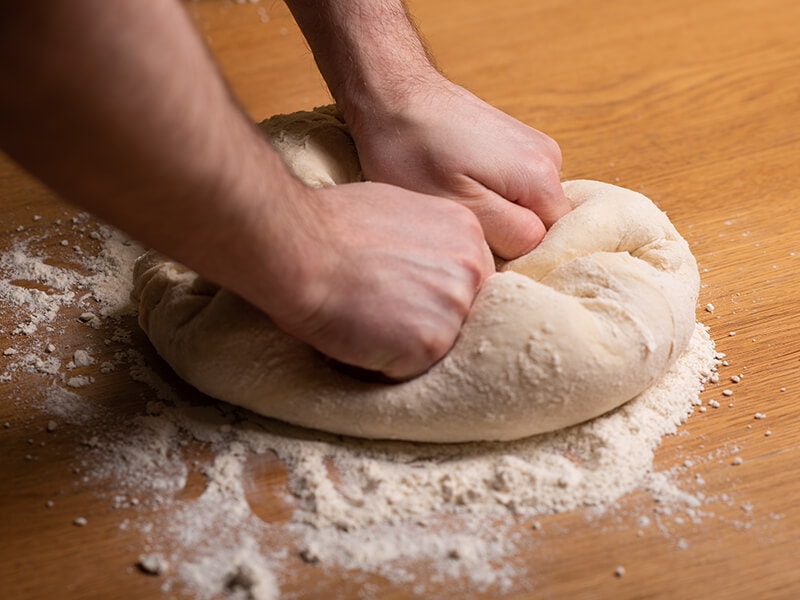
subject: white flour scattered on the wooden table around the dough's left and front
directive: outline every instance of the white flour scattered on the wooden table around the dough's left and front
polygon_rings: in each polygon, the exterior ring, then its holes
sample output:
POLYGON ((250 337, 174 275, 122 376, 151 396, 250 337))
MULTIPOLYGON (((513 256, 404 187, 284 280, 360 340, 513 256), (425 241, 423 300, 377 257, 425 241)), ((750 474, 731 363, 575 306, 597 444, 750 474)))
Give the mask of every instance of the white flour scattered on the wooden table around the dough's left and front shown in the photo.
MULTIPOLYGON (((41 395, 17 403, 42 412, 53 435, 65 435, 62 423, 81 427, 78 481, 108 495, 120 528, 139 532, 141 576, 159 577, 165 594, 269 600, 302 560, 378 574, 419 596, 442 584, 498 595, 535 577, 515 555, 539 543, 542 515, 613 511, 634 490, 649 492, 658 508, 629 516, 642 534, 706 514, 701 493, 653 470, 662 437, 699 406, 703 381, 718 379, 721 357, 699 325, 656 385, 567 430, 512 443, 341 438, 225 404, 190 404, 131 335, 127 294, 141 249, 85 217, 71 227, 70 241, 83 235, 85 243, 70 265, 54 266, 44 238, 27 232, 0 257, 0 311, 14 316, 0 385, 13 391, 16 378, 38 378, 41 395), (67 331, 86 341, 66 348, 67 331), (93 399, 104 377, 120 374, 146 390, 130 419, 93 399), (248 461, 271 455, 287 470, 288 491, 274 498, 291 513, 286 523, 263 521, 248 501, 248 461), (198 477, 202 491, 186 498, 198 477)), ((708 460, 730 463, 729 455, 708 460)))

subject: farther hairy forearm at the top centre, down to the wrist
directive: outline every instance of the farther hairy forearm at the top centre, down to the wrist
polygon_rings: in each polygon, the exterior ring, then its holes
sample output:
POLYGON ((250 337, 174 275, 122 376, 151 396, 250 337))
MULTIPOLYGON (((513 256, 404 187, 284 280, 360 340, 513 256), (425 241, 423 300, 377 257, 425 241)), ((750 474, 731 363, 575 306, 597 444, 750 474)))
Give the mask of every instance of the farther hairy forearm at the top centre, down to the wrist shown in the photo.
POLYGON ((441 78, 403 0, 286 0, 351 124, 441 78))

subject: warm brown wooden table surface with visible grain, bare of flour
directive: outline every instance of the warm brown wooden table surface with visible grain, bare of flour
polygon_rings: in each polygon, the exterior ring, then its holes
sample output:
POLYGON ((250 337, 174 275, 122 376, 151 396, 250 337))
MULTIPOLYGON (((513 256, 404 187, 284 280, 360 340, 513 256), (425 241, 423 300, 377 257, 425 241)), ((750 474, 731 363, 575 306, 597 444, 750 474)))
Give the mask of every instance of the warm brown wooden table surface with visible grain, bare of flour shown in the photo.
MULTIPOLYGON (((619 526, 619 515, 651 510, 654 501, 633 493, 591 519, 583 510, 544 517, 547 535, 520 549, 536 568, 507 597, 800 597, 800 3, 429 0, 411 8, 453 80, 559 141, 564 179, 618 183, 667 211, 701 269, 698 319, 729 363, 701 396, 722 406, 691 416, 655 461, 670 469, 738 448, 738 466, 724 454, 681 467, 685 480, 701 477, 709 497, 726 500, 708 507, 713 516, 640 537, 635 526, 619 526), (727 381, 738 374, 740 383, 727 381), (721 391, 732 386, 728 408, 721 391), (616 565, 623 577, 614 576, 616 565)), ((329 101, 282 4, 200 1, 187 9, 253 119, 329 101)), ((55 220, 77 212, 7 160, 0 205, 0 249, 18 225, 35 225, 54 256, 66 227, 55 220), (41 221, 31 223, 33 214, 41 221)), ((15 321, 0 308, 6 348, 17 342, 15 321)), ((81 343, 87 330, 66 341, 81 343)), ((131 569, 141 550, 135 532, 121 531, 107 500, 76 480, 80 431, 48 437, 47 416, 21 400, 42 385, 23 376, 0 383, 0 422, 8 423, 0 429, 0 595, 161 597, 157 578, 131 569), (32 448, 36 460, 26 460, 32 448), (58 502, 47 509, 54 490, 58 502), (79 513, 92 515, 92 527, 72 525, 79 513)), ((131 415, 148 400, 122 376, 87 390, 98 402, 114 395, 131 415)), ((367 581, 375 597, 409 594, 379 577, 367 581)), ((299 559, 281 584, 294 597, 359 593, 347 573, 299 559)), ((447 587, 437 595, 448 597, 447 587)), ((465 595, 481 594, 450 594, 465 595)))

